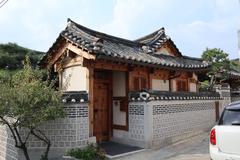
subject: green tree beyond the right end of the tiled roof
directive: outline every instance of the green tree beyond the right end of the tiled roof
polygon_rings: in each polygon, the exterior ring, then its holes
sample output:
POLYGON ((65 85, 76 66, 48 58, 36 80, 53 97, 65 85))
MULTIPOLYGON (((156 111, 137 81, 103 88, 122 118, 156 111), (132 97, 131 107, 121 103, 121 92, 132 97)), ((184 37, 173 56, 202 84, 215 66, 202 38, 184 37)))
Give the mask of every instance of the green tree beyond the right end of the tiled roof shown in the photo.
POLYGON ((203 60, 211 64, 211 68, 207 73, 210 78, 209 89, 212 89, 214 84, 221 84, 227 80, 231 70, 237 66, 235 62, 229 60, 228 56, 226 52, 218 48, 207 48, 203 52, 203 60))

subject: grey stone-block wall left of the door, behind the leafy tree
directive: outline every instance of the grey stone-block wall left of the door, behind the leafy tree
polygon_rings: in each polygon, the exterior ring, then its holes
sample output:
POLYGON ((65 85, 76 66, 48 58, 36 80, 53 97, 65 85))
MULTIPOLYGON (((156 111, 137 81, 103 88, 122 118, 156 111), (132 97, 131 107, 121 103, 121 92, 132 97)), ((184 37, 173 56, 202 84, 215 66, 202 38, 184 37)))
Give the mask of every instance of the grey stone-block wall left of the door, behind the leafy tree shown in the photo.
MULTIPOLYGON (((66 118, 39 127, 51 140, 50 159, 61 157, 71 148, 84 147, 89 140, 88 103, 66 103, 65 110, 66 118)), ((15 148, 11 133, 5 126, 0 127, 0 160, 25 160, 22 151, 15 148)), ((20 133, 26 136, 27 130, 21 129, 20 133)), ((46 147, 45 143, 33 136, 29 137, 26 145, 31 160, 39 160, 46 147)))

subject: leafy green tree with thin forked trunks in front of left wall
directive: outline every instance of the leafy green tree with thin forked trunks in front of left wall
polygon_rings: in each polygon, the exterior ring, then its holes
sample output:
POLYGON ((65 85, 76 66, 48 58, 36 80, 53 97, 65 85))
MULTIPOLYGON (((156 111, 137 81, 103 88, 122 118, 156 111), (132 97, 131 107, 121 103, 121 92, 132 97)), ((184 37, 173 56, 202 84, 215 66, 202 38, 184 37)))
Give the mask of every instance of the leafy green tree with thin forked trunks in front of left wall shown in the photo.
POLYGON ((28 58, 23 70, 12 74, 0 72, 0 123, 9 128, 15 147, 23 151, 27 160, 30 157, 26 143, 30 135, 46 143, 42 159, 48 159, 51 142, 39 126, 65 115, 61 93, 53 89, 54 83, 43 80, 44 75, 32 69, 28 58), (21 130, 27 134, 21 135, 21 130))

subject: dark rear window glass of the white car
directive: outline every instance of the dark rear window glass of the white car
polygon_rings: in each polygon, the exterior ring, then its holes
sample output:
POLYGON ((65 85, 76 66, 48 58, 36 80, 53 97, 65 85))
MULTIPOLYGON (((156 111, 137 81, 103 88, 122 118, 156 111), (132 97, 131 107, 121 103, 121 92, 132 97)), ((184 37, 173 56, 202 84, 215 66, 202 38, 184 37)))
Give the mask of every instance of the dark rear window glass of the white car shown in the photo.
POLYGON ((240 125, 240 110, 225 109, 219 125, 240 125))

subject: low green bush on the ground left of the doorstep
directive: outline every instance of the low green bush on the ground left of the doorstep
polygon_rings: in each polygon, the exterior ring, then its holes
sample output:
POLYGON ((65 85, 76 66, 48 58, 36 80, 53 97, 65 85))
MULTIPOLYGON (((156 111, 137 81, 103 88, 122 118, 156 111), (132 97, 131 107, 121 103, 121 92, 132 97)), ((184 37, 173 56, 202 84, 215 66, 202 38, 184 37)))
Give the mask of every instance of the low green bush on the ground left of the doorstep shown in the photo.
POLYGON ((105 152, 100 147, 94 145, 88 145, 87 147, 80 149, 71 149, 66 153, 67 156, 71 156, 82 160, 105 160, 105 152))

